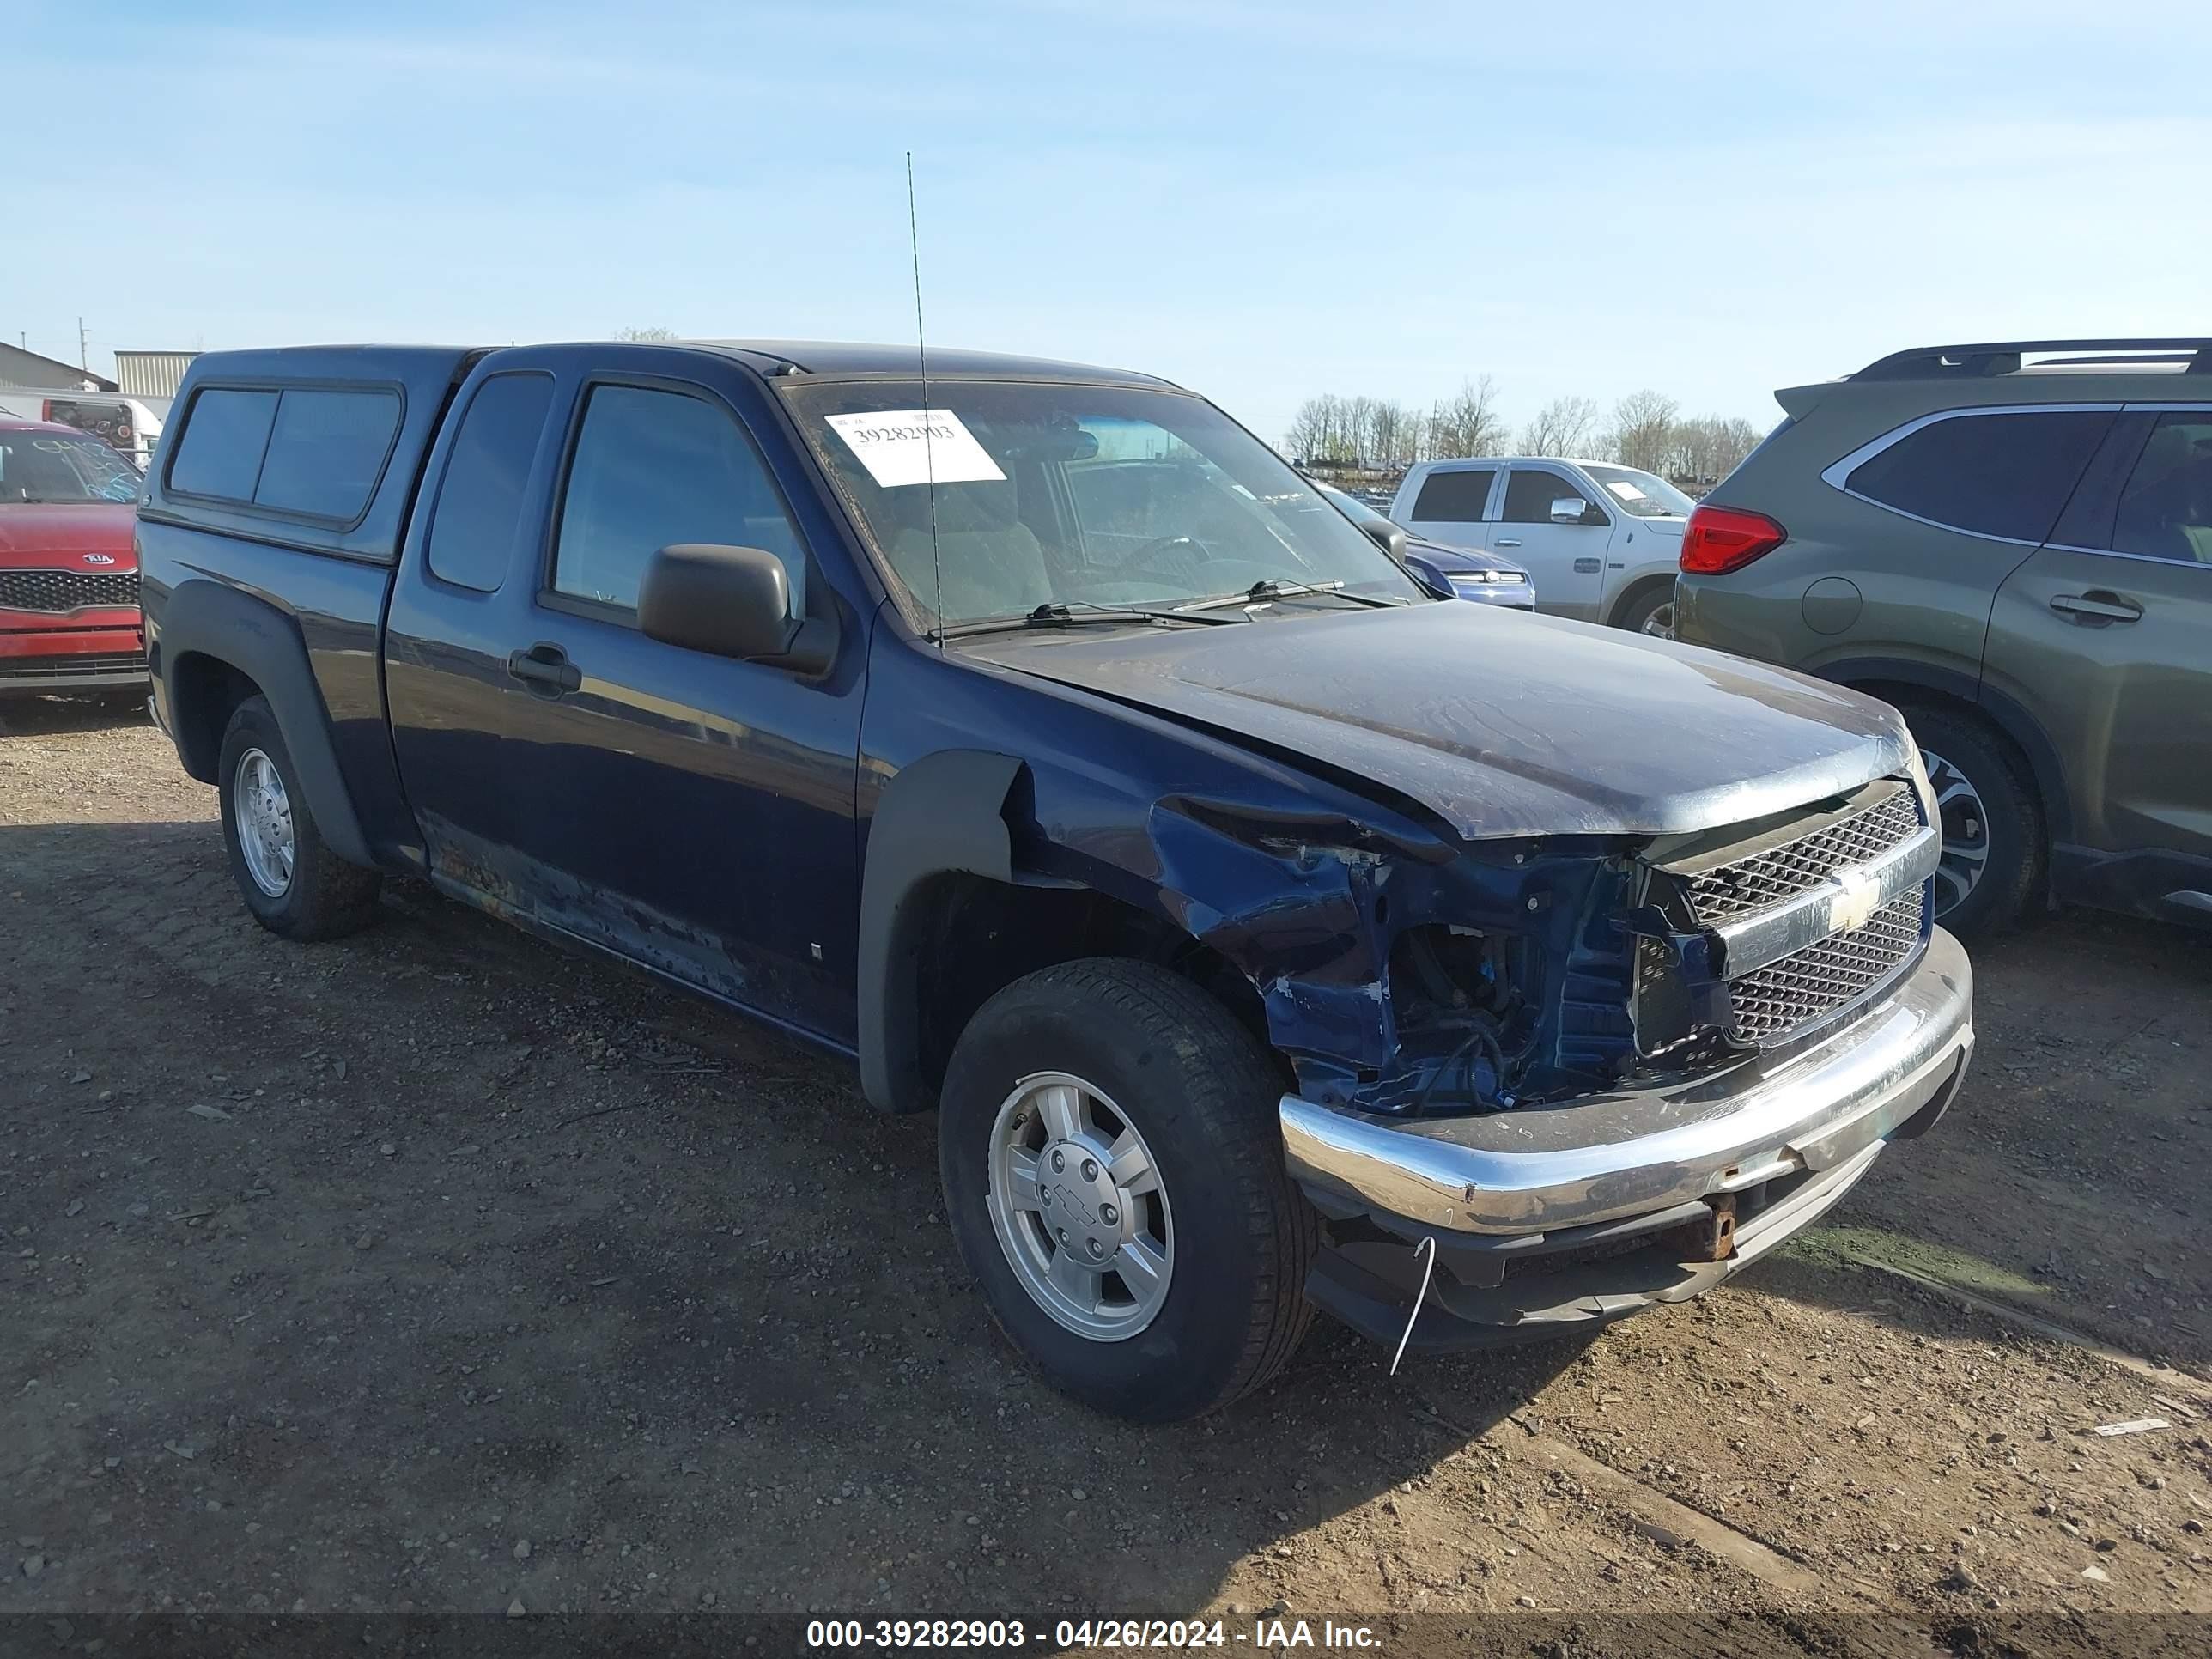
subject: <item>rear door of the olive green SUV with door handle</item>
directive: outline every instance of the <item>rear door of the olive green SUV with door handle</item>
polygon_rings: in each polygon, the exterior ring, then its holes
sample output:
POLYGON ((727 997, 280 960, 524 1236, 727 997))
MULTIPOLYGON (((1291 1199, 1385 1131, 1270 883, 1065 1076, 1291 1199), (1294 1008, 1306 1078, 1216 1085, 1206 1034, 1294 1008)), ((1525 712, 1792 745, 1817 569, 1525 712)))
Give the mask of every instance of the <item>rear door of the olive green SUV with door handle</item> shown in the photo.
POLYGON ((2177 891, 2203 891, 2212 887, 2212 405, 2130 411, 2106 451, 2121 442, 2139 453, 2115 469, 2117 489, 2099 502, 2101 467, 2093 467, 2051 542, 1997 591, 1982 672, 2057 745, 2073 841, 2205 860, 2192 878, 2174 874, 2177 891))

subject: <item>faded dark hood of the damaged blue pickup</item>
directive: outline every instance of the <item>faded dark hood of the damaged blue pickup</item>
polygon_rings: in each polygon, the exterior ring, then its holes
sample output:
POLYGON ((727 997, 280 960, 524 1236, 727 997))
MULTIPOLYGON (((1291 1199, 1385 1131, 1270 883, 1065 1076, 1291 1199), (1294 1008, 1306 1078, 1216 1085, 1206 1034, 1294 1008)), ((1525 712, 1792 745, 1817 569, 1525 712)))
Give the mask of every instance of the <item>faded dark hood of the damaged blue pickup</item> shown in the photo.
POLYGON ((1283 604, 1223 628, 982 635, 958 650, 1365 779, 1464 838, 1681 834, 1902 772, 1869 697, 1717 650, 1473 604, 1283 604))

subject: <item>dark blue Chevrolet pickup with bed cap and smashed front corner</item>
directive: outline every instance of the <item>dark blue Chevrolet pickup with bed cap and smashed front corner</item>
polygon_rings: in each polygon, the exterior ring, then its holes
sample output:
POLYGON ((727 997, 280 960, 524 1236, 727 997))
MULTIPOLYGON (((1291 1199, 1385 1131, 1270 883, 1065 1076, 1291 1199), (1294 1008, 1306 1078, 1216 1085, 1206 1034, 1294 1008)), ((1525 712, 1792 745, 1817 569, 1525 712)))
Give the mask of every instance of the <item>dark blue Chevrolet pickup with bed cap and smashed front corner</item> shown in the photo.
POLYGON ((1694 1296, 1942 1115, 1971 973, 1893 710, 1438 602, 1166 380, 920 369, 197 358, 153 706, 254 918, 420 878, 849 1055, 938 1110, 1011 1340, 1146 1420, 1316 1310, 1694 1296))

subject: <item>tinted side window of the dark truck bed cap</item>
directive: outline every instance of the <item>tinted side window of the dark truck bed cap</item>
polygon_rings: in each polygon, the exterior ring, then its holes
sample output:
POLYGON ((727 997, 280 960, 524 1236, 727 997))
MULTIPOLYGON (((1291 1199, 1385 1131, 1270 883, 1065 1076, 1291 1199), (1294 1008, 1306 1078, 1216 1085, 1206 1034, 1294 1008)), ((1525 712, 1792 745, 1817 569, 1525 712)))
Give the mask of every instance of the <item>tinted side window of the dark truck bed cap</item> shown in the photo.
POLYGON ((352 522, 369 504, 398 425, 398 394, 385 387, 206 387, 192 398, 168 487, 352 522))

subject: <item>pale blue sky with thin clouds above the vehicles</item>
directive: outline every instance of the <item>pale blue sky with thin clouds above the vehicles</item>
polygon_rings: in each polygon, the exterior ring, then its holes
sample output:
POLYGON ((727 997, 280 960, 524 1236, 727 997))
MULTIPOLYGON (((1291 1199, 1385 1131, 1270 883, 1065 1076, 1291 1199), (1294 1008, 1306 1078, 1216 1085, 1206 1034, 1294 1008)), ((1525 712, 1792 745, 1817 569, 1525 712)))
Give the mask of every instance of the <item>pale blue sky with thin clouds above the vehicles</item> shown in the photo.
POLYGON ((1506 414, 2212 330, 2212 7, 13 0, 0 330, 909 338, 1506 414), (1354 27, 1356 24, 1356 27, 1354 27))

